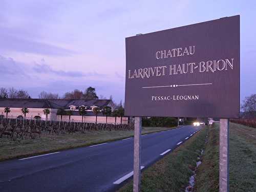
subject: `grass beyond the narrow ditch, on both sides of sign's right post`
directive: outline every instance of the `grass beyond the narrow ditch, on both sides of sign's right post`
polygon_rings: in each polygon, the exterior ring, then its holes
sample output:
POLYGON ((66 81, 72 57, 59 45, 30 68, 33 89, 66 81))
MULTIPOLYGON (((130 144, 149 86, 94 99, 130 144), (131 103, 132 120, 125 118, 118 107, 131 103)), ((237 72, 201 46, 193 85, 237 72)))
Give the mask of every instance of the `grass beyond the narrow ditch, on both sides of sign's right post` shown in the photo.
MULTIPOLYGON (((195 189, 219 191, 219 124, 209 129, 195 189)), ((229 126, 229 191, 256 191, 256 129, 236 123, 229 126)))

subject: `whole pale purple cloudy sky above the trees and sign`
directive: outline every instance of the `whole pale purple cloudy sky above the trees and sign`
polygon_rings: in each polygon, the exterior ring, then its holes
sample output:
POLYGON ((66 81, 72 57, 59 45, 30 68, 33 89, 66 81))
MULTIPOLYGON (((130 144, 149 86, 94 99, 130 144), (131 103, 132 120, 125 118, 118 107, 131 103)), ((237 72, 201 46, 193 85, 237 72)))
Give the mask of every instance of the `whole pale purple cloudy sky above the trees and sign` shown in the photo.
POLYGON ((241 100, 256 93, 256 1, 0 2, 0 87, 124 100, 125 37, 240 14, 241 100))

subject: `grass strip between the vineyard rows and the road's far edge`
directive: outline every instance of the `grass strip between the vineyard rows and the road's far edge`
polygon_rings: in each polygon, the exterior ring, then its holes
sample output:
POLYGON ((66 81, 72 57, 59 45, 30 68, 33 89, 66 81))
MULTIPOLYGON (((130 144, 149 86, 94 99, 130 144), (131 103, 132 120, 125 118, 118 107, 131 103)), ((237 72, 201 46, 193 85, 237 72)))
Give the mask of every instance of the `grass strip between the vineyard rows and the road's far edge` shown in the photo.
MULTIPOLYGON (((142 134, 174 129, 176 127, 143 127, 142 134)), ((42 135, 37 139, 0 138, 0 161, 67 150, 133 137, 133 131, 98 131, 72 135, 42 135)))

